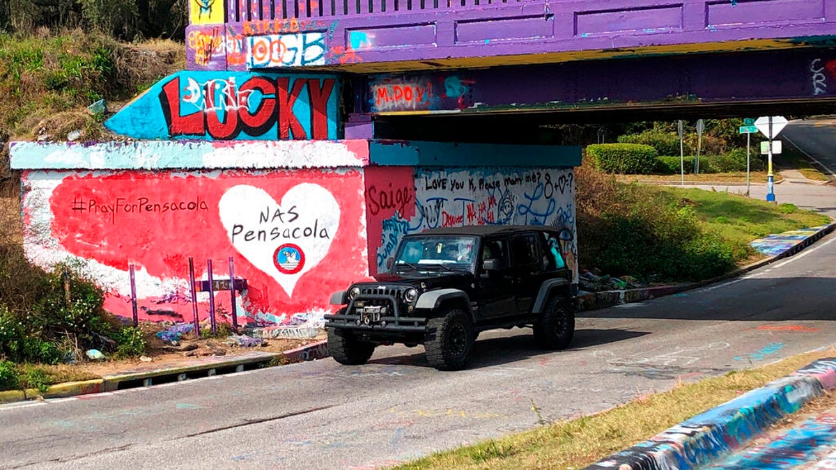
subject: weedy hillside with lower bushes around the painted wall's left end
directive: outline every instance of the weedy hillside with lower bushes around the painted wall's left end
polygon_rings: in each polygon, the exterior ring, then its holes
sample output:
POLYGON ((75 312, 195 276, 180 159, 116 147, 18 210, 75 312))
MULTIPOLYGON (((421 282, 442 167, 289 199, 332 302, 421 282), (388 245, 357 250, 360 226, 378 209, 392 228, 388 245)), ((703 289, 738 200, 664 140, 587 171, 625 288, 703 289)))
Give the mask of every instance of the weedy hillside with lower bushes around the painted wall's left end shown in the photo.
POLYGON ((8 166, 9 140, 113 140, 108 113, 185 68, 182 43, 124 43, 80 29, 0 33, 0 390, 44 390, 58 378, 40 365, 140 355, 143 333, 104 311, 104 293, 82 267, 51 271, 23 252, 19 177, 8 166), (104 100, 107 112, 88 106, 104 100))

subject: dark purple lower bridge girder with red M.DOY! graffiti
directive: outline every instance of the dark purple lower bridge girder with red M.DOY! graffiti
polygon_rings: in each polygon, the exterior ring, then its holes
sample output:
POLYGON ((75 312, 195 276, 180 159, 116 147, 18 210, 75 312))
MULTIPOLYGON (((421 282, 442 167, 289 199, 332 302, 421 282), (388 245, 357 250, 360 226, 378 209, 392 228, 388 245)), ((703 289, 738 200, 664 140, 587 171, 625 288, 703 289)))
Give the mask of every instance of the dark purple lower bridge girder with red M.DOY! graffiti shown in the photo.
POLYGON ((365 113, 460 113, 836 99, 836 49, 379 74, 365 113))

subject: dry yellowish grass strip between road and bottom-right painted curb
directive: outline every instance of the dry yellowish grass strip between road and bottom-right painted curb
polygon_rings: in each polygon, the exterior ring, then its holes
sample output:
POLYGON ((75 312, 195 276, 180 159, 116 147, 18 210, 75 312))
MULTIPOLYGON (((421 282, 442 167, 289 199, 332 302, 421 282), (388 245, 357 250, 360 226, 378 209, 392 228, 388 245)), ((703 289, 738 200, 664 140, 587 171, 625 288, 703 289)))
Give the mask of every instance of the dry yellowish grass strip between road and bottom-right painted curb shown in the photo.
POLYGON ((714 406, 764 386, 833 349, 793 356, 757 369, 729 372, 593 416, 561 421, 528 432, 461 447, 401 465, 418 468, 581 468, 655 436, 714 406))

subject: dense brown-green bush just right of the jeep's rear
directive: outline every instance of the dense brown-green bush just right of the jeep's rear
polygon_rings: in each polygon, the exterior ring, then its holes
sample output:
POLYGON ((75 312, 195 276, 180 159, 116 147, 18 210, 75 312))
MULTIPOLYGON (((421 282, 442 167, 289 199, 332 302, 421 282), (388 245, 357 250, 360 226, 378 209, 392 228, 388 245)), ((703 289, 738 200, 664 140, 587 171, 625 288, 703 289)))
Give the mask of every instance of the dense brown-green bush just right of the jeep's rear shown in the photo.
POLYGON ((655 188, 576 172, 582 268, 645 280, 696 281, 735 266, 737 247, 705 232, 691 207, 655 188))

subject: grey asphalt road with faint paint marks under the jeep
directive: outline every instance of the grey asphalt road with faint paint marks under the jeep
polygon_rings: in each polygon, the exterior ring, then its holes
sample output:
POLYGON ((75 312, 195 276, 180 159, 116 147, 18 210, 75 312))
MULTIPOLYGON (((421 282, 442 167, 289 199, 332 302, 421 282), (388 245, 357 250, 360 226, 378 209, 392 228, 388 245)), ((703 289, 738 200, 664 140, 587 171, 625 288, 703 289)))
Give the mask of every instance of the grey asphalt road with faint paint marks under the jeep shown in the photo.
MULTIPOLYGON (((832 186, 803 187, 836 201, 832 186)), ((836 234, 742 278, 582 314, 565 351, 500 330, 460 372, 391 346, 362 366, 317 360, 3 406, 0 468, 384 466, 832 345, 834 285, 836 234)))

